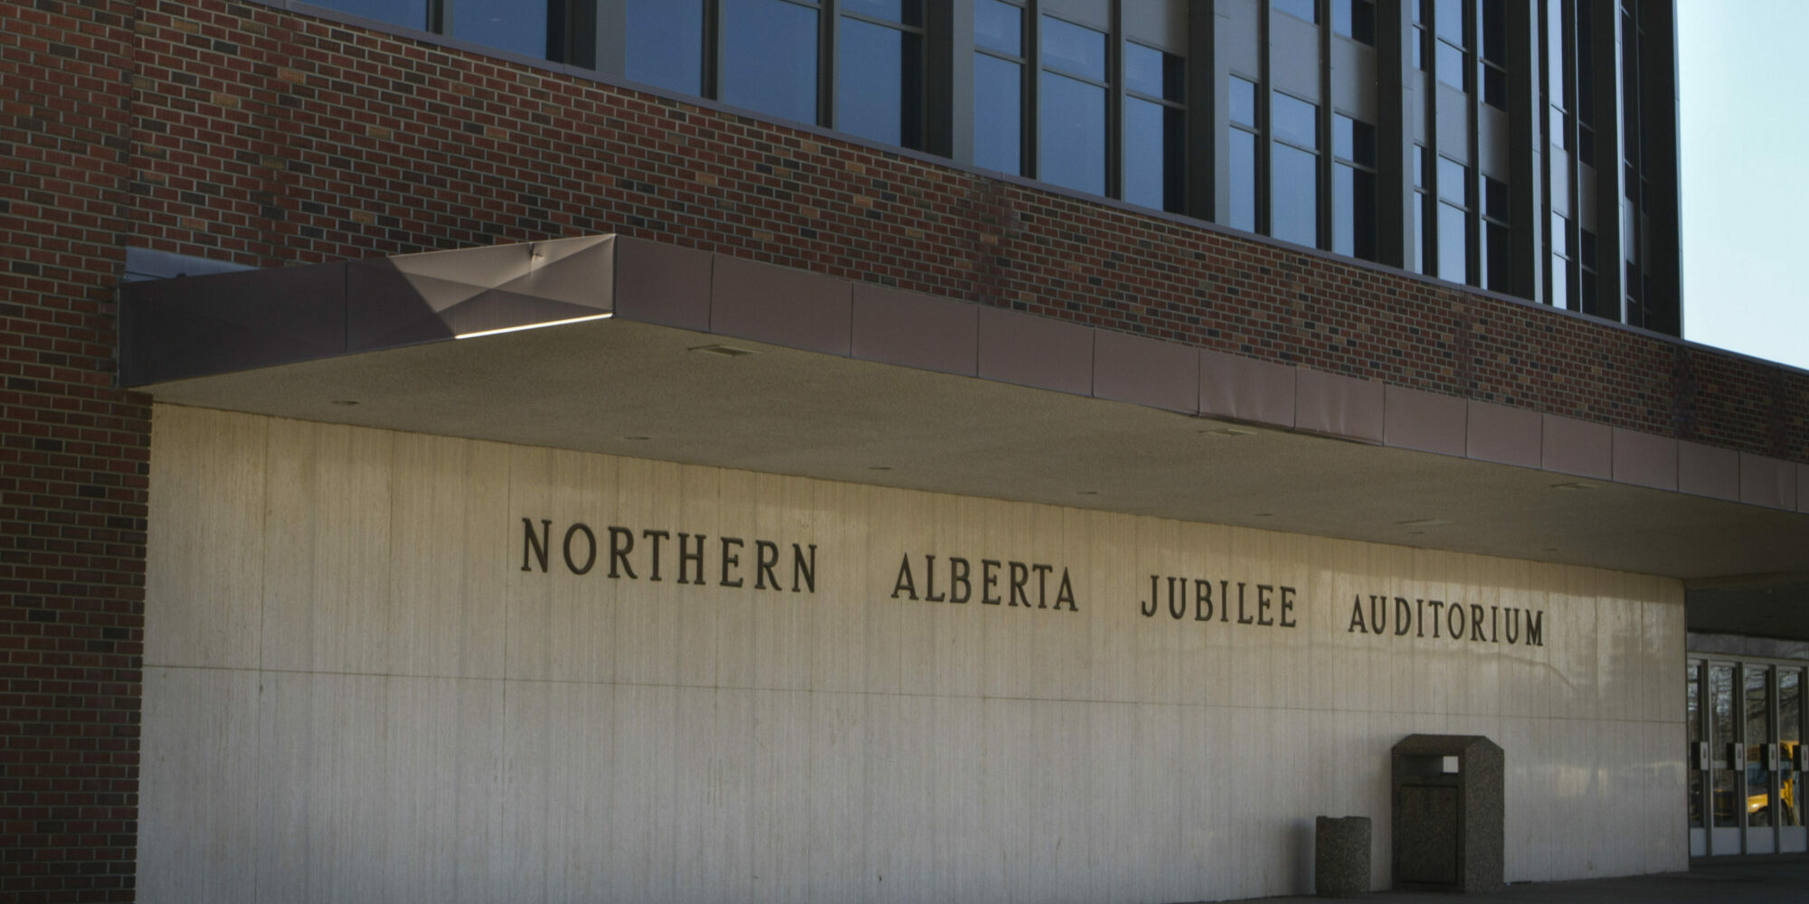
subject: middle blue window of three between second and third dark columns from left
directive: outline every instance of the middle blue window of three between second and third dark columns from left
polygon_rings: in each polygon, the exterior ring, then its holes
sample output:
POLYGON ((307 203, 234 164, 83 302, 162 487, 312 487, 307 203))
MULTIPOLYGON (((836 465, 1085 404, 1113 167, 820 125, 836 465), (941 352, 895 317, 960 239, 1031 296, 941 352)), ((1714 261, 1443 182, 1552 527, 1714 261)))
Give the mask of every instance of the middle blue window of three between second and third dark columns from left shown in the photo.
POLYGON ((1105 193, 1105 33, 1042 16, 1037 177, 1105 193))

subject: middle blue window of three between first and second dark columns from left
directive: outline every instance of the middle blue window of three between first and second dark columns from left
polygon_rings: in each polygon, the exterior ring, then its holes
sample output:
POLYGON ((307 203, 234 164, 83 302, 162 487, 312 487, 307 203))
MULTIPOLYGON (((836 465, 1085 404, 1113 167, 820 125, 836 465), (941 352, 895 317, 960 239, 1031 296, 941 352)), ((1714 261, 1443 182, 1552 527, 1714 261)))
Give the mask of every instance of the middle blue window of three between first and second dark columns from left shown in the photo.
POLYGON ((722 99, 816 123, 818 11, 789 0, 729 0, 722 99))

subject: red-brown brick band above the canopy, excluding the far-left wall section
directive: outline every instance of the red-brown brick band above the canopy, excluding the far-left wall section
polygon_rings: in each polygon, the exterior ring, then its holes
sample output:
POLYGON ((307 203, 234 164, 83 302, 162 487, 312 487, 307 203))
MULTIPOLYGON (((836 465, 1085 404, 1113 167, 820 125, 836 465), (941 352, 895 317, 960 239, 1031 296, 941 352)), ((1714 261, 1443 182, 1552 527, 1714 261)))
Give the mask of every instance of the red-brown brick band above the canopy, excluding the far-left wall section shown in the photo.
POLYGON ((1684 414, 1677 347, 1603 324, 260 5, 141 22, 154 248, 619 231, 1809 461, 1804 374, 1684 353, 1684 414))

